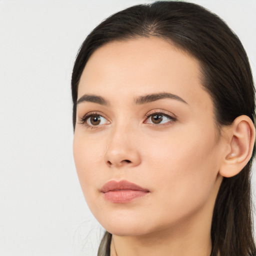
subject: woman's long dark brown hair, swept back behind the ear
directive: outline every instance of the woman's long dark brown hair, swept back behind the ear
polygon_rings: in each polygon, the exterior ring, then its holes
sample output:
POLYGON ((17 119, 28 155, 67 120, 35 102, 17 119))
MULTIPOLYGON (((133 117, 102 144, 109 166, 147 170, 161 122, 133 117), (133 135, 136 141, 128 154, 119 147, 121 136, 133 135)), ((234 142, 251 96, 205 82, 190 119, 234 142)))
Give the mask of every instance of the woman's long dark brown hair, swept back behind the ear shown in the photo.
MULTIPOLYGON (((96 26, 77 54, 72 79, 73 127, 77 87, 90 55, 115 40, 156 36, 174 43, 199 63, 202 86, 212 98, 218 127, 239 115, 254 123, 254 86, 246 52, 226 23, 205 8, 182 1, 156 1, 119 11, 96 26)), ((223 178, 211 224, 211 256, 256 255, 252 233, 251 159, 239 174, 223 178)), ((109 255, 111 234, 105 233, 98 255, 109 255)))

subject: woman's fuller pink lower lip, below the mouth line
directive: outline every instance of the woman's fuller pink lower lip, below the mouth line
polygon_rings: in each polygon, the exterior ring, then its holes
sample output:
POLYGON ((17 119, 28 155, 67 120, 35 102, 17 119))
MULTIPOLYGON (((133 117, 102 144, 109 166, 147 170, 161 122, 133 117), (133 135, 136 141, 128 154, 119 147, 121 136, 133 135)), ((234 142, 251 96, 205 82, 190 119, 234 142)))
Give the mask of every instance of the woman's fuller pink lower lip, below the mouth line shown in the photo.
POLYGON ((106 200, 116 203, 129 202, 135 198, 145 196, 148 192, 141 190, 115 190, 104 193, 106 200))

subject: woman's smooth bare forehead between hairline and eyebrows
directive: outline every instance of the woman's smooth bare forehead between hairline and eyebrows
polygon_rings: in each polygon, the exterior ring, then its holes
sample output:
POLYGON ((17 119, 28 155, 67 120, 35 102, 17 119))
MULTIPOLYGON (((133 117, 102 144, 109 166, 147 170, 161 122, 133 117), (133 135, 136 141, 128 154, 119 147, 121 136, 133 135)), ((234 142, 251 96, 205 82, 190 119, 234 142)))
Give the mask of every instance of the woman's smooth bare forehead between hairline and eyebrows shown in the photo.
POLYGON ((211 105, 201 84, 199 62, 158 37, 109 42, 96 49, 82 72, 78 97, 84 93, 139 96, 170 92, 195 104, 211 105))

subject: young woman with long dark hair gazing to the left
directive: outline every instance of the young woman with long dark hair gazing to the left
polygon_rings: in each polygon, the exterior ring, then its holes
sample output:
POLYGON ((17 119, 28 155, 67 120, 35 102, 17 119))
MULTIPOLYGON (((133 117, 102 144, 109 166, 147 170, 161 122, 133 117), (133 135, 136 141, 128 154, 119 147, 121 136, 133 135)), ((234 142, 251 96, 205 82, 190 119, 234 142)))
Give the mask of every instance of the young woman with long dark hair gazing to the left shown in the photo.
POLYGON ((71 84, 98 255, 256 254, 254 87, 219 17, 175 1, 117 12, 83 42, 71 84))

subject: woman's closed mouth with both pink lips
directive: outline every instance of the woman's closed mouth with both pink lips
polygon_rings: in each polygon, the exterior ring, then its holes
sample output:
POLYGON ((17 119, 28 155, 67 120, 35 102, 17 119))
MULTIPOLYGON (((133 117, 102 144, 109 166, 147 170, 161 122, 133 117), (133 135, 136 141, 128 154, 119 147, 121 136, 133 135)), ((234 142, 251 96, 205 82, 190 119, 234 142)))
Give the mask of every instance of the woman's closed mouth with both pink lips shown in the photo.
POLYGON ((126 203, 145 196, 150 191, 127 180, 110 180, 100 189, 106 200, 114 203, 126 203))

